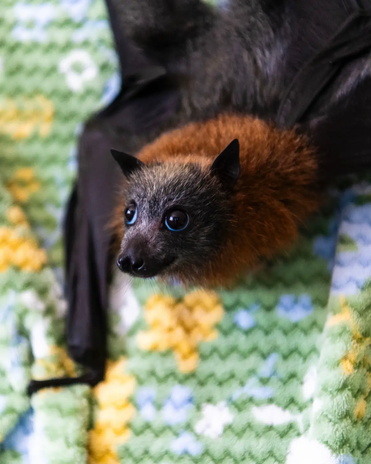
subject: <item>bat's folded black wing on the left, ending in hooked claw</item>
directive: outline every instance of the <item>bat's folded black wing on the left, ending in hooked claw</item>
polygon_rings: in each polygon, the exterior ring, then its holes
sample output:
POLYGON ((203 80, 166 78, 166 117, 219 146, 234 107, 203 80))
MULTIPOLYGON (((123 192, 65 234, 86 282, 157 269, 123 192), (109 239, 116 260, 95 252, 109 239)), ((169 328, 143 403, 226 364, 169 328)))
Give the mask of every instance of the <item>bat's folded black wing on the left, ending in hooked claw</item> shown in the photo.
POLYGON ((178 91, 165 70, 128 43, 117 24, 112 1, 106 1, 120 58, 122 88, 111 104, 85 124, 78 147, 77 181, 64 221, 67 345, 70 356, 87 367, 87 373, 77 378, 32 381, 30 394, 48 386, 94 386, 102 380, 114 240, 108 224, 122 181, 110 149, 133 147, 135 135, 142 136, 170 120, 178 103, 178 91))

